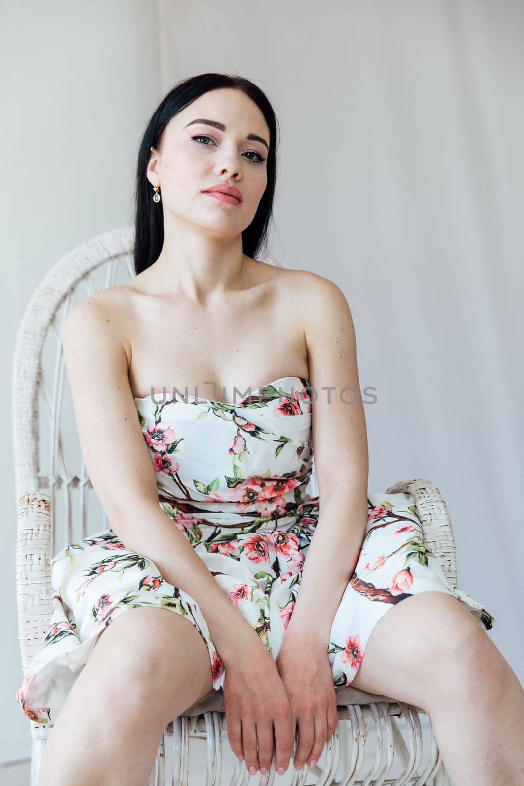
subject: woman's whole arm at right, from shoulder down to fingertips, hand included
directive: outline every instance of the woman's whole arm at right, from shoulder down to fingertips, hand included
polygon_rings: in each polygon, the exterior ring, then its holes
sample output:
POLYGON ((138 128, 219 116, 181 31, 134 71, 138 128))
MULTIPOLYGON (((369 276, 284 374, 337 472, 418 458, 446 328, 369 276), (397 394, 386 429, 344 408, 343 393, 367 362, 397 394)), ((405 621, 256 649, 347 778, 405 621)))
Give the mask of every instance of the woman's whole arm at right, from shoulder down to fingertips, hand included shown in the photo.
POLYGON ((327 278, 305 273, 301 282, 296 292, 301 307, 295 313, 306 315, 320 511, 277 657, 291 705, 291 726, 299 726, 293 759, 297 769, 306 762, 315 766, 336 729, 328 638, 368 520, 368 439, 350 307, 327 278))

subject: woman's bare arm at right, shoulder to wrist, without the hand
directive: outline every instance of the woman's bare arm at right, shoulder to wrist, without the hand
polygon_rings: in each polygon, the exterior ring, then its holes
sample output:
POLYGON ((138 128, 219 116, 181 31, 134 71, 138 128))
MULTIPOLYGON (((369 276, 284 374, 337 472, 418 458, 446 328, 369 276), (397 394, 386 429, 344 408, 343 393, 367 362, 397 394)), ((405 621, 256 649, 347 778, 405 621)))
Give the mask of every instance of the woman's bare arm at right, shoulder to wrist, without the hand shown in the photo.
POLYGON ((368 439, 346 297, 327 278, 302 281, 320 513, 286 637, 306 634, 324 654, 368 520, 368 439))

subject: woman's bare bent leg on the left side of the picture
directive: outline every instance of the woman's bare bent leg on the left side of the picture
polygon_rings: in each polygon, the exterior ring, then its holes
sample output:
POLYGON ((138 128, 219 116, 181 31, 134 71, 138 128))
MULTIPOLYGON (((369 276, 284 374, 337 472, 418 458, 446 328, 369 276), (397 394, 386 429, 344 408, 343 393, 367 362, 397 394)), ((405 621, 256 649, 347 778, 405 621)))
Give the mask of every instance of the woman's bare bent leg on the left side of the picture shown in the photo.
POLYGON ((100 635, 49 734, 38 786, 145 786, 170 720, 211 691, 196 627, 134 608, 100 635))

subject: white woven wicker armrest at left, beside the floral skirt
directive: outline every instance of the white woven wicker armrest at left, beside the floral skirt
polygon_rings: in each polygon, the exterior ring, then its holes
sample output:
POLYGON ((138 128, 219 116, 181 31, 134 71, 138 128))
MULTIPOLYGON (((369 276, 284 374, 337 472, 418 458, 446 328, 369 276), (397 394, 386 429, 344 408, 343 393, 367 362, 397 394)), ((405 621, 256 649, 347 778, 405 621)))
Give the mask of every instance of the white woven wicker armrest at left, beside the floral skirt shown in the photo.
POLYGON ((16 608, 24 675, 49 627, 51 585, 51 501, 35 491, 18 499, 16 524, 16 608))

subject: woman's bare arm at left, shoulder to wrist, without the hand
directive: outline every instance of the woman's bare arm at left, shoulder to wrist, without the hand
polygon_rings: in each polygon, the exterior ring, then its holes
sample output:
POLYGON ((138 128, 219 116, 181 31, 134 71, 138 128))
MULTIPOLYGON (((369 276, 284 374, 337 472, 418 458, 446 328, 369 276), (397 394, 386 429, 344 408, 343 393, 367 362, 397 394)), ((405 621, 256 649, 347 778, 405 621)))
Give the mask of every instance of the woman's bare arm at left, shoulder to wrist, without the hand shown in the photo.
POLYGON ((87 472, 126 549, 151 559, 163 578, 200 605, 227 668, 240 647, 260 639, 159 506, 128 379, 130 348, 118 322, 118 296, 111 291, 78 303, 64 322, 64 358, 87 472))

